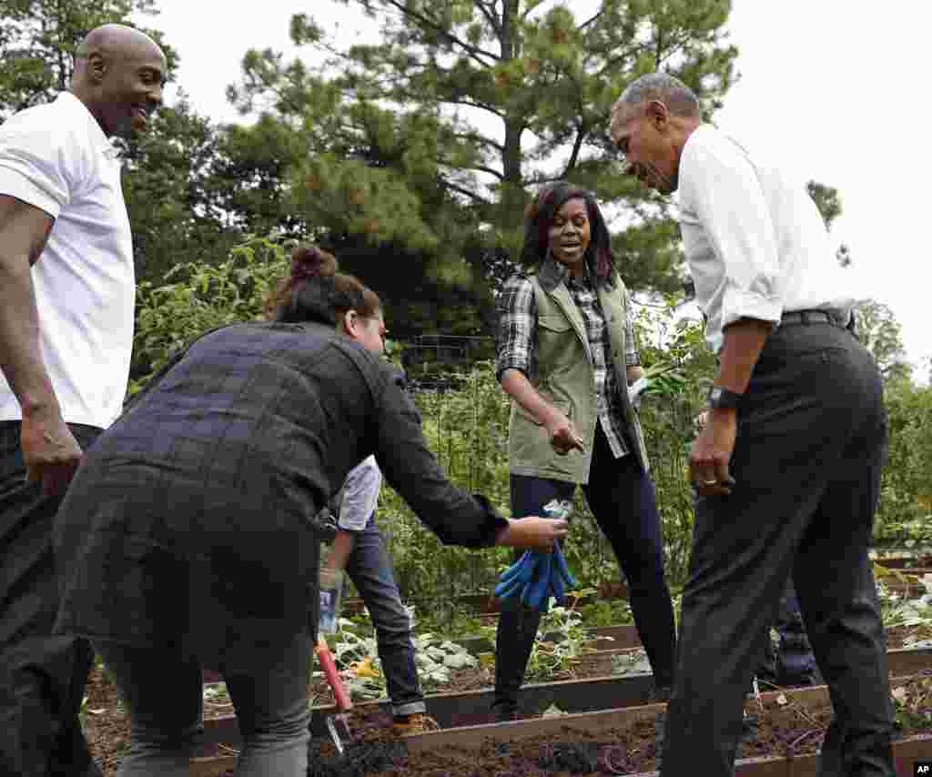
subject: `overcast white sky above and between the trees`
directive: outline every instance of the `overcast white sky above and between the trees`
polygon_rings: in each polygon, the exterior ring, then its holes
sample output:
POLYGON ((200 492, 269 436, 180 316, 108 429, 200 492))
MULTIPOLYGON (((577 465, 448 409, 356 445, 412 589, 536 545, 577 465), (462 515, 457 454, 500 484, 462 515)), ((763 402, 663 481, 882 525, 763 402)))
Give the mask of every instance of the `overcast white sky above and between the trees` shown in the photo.
MULTIPOLYGON (((550 4, 548 4, 550 5, 550 4)), ((569 4, 577 15, 595 0, 569 4)), ((338 21, 340 37, 372 34, 372 22, 331 0, 158 0, 163 31, 181 57, 177 85, 200 114, 239 121, 226 85, 240 79, 248 48, 291 51, 292 14, 338 21)), ((854 261, 852 279, 889 305, 917 366, 932 357, 925 306, 929 286, 925 186, 929 48, 925 3, 887 0, 733 0, 728 30, 741 77, 716 124, 738 139, 782 146, 808 178, 839 189, 843 215, 832 227, 854 261)), ((167 102, 173 101, 173 89, 167 102)), ((927 362, 926 362, 927 363, 927 362)), ((916 377, 925 378, 920 369, 916 377)))

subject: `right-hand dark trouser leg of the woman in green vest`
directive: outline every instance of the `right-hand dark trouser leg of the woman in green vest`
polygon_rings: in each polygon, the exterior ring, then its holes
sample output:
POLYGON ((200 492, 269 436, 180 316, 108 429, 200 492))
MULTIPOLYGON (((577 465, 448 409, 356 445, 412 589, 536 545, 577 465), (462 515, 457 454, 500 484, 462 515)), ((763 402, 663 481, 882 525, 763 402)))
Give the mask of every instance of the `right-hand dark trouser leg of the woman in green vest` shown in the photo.
POLYGON ((651 661, 656 688, 670 688, 676 623, 664 574, 664 535, 651 477, 637 459, 616 459, 601 428, 583 493, 628 581, 628 602, 651 661))

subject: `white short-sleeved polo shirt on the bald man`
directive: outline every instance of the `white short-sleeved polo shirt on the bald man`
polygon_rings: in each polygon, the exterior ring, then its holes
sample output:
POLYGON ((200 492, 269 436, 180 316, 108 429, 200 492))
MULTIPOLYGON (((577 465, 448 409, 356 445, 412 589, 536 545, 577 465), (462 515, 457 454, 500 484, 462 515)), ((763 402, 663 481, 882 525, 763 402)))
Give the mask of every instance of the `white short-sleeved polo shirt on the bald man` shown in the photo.
MULTIPOLYGON (((135 303, 117 149, 62 92, 0 126, 0 194, 55 219, 32 270, 42 356, 64 420, 105 429, 126 395, 135 303)), ((0 374, 0 420, 21 417, 0 374)))

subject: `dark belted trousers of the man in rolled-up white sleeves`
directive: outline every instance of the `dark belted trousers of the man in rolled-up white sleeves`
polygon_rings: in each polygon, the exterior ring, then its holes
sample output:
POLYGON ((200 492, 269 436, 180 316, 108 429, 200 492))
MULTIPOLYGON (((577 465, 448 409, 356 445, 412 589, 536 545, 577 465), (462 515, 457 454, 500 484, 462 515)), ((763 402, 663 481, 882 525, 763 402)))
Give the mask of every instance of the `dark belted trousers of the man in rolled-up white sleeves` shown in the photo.
POLYGON ((886 440, 870 353, 827 323, 772 334, 738 410, 727 497, 696 501, 663 777, 730 777, 742 703, 790 574, 835 716, 819 774, 892 777, 868 544, 886 440))

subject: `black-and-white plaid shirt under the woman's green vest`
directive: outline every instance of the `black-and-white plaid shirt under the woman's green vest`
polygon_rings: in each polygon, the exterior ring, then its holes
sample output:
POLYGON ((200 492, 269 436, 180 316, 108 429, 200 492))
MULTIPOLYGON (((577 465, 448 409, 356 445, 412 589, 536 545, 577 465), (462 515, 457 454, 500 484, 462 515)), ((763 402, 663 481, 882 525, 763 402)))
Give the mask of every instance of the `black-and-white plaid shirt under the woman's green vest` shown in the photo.
MULTIPOLYGON (((554 261, 554 260, 548 260, 554 261)), ((593 373, 596 381, 596 409, 602 429, 608 438, 611 452, 616 458, 629 453, 624 438, 624 408, 618 376, 611 368, 609 333, 605 325, 602 307, 598 304, 596 289, 588 273, 581 279, 569 275, 563 270, 563 282, 566 284, 573 304, 583 316, 589 351, 593 358, 593 373)), ((624 363, 628 366, 640 364, 640 354, 635 341, 634 320, 628 300, 628 315, 624 322, 624 363)), ((537 353, 537 305, 534 301, 534 287, 523 276, 513 276, 505 283, 498 300, 499 343, 496 375, 501 379, 507 369, 520 370, 531 382, 538 377, 537 353)))

